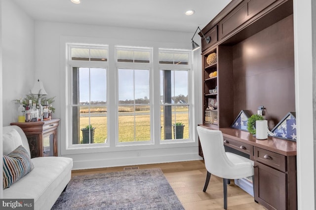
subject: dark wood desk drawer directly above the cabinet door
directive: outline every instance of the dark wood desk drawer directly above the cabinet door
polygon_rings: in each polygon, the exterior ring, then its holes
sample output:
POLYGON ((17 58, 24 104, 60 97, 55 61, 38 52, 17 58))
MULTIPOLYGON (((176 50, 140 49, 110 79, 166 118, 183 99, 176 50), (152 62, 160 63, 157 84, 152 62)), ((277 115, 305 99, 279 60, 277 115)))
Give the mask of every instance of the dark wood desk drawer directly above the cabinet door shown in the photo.
POLYGON ((254 160, 286 172, 286 157, 258 147, 254 148, 254 160))

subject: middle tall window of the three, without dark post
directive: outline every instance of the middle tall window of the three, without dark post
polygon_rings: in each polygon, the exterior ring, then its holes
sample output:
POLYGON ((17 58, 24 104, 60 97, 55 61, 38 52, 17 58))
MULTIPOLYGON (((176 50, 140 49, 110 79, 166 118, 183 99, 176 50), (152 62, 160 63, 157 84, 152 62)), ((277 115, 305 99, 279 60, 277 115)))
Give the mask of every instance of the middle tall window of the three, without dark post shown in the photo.
POLYGON ((117 47, 118 143, 151 142, 149 48, 117 47))

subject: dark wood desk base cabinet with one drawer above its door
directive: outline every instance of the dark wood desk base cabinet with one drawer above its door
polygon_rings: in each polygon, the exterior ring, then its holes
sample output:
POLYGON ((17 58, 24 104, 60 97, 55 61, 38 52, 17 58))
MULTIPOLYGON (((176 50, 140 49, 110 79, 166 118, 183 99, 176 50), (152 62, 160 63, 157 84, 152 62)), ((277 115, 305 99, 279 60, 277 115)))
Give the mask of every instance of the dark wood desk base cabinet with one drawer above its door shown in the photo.
POLYGON ((254 147, 255 200, 269 209, 296 209, 296 157, 254 147))

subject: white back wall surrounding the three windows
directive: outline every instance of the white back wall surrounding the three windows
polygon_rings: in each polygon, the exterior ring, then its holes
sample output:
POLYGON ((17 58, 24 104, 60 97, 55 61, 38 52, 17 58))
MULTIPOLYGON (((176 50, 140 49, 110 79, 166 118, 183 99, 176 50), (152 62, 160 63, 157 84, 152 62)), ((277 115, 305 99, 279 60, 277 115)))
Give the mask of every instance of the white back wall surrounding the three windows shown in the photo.
MULTIPOLYGON (((121 148, 92 148, 78 154, 78 150, 66 150, 66 119, 65 119, 65 43, 96 43, 109 44, 109 52, 113 53, 115 45, 154 47, 158 48, 191 48, 191 33, 164 32, 131 28, 117 28, 93 25, 66 24, 56 22, 35 22, 35 75, 43 81, 48 97, 56 96, 54 118, 61 118, 58 130, 58 152, 61 156, 74 159, 74 169, 100 168, 159 162, 174 162, 200 159, 197 142, 177 143, 169 145, 132 146, 121 148)), ((199 37, 196 37, 199 40, 199 37)), ((156 50, 156 51, 155 51, 156 50)), ((200 53, 200 52, 199 52, 200 53)), ((114 54, 113 54, 114 55, 114 54)), ((201 59, 194 56, 195 86, 201 80, 201 59)), ((109 70, 115 70, 109 63, 109 70)), ((158 70, 158 69, 157 69, 158 70)), ((156 71, 157 71, 156 70, 156 71)), ((115 85, 114 81, 110 81, 115 85)), ((110 84, 110 86, 111 86, 110 84)), ((196 98, 194 106, 200 123, 199 111, 201 100, 196 98)), ((200 92, 199 92, 200 93, 200 92)), ((109 107, 111 109, 111 107, 109 107)), ((195 126, 194 126, 195 127, 195 126)), ((155 129, 155 128, 154 128, 155 129)), ((159 126, 160 129, 160 126, 159 126)), ((110 129, 111 130, 111 129, 110 129)), ((195 130, 195 129, 194 129, 195 130)), ((110 132, 113 132, 112 130, 110 132)), ((195 134, 195 138, 197 134, 195 134)), ((158 142, 158 140, 155 140, 158 142)))

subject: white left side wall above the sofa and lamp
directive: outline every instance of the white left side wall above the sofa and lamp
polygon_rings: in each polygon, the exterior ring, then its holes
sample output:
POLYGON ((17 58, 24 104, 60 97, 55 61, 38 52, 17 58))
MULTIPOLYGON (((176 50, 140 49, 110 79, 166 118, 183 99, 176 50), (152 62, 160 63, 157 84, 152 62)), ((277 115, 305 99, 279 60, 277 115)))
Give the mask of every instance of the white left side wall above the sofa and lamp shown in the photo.
POLYGON ((34 20, 12 0, 2 0, 3 125, 17 122, 19 99, 34 85, 34 20))

